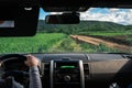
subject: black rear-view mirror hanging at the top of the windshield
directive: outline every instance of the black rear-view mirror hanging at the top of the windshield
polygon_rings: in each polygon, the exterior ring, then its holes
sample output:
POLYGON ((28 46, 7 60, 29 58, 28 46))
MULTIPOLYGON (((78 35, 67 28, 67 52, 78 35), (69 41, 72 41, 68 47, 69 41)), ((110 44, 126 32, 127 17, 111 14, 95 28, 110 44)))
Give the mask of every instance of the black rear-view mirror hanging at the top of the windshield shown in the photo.
POLYGON ((78 24, 79 13, 50 14, 45 18, 46 24, 78 24))

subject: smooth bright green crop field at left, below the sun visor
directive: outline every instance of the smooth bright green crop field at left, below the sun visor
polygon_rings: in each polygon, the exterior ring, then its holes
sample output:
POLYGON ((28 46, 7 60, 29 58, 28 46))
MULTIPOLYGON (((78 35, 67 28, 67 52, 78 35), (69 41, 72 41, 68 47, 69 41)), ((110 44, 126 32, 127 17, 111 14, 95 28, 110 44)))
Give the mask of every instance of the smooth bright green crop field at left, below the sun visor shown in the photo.
POLYGON ((63 33, 37 33, 33 37, 0 37, 0 53, 44 53, 65 37, 63 33))

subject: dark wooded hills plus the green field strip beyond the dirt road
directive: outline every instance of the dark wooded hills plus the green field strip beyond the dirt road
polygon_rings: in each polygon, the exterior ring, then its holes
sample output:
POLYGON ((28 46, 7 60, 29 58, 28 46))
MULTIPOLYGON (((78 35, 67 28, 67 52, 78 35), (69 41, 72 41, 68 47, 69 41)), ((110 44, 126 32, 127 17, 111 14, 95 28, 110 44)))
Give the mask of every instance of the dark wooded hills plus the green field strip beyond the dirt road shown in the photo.
POLYGON ((99 35, 106 37, 122 38, 132 42, 132 25, 121 25, 112 22, 81 21, 79 24, 44 24, 43 20, 38 22, 38 32, 45 33, 65 33, 73 35, 99 35))

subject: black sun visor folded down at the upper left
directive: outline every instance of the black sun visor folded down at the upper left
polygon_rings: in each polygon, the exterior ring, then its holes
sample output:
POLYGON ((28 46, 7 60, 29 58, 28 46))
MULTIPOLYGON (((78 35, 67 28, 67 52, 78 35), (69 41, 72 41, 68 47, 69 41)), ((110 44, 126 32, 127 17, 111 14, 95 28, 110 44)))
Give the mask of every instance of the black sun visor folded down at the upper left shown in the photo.
POLYGON ((36 6, 0 6, 0 36, 33 36, 36 33, 36 6))

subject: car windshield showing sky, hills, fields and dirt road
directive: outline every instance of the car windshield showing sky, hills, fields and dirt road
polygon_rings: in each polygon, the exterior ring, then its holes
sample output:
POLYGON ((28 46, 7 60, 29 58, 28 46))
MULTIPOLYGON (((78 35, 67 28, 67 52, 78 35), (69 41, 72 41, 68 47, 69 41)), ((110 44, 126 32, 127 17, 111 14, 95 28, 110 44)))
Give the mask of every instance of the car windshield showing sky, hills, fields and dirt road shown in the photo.
POLYGON ((79 24, 45 24, 32 37, 0 37, 0 53, 132 53, 132 9, 90 8, 79 24))

